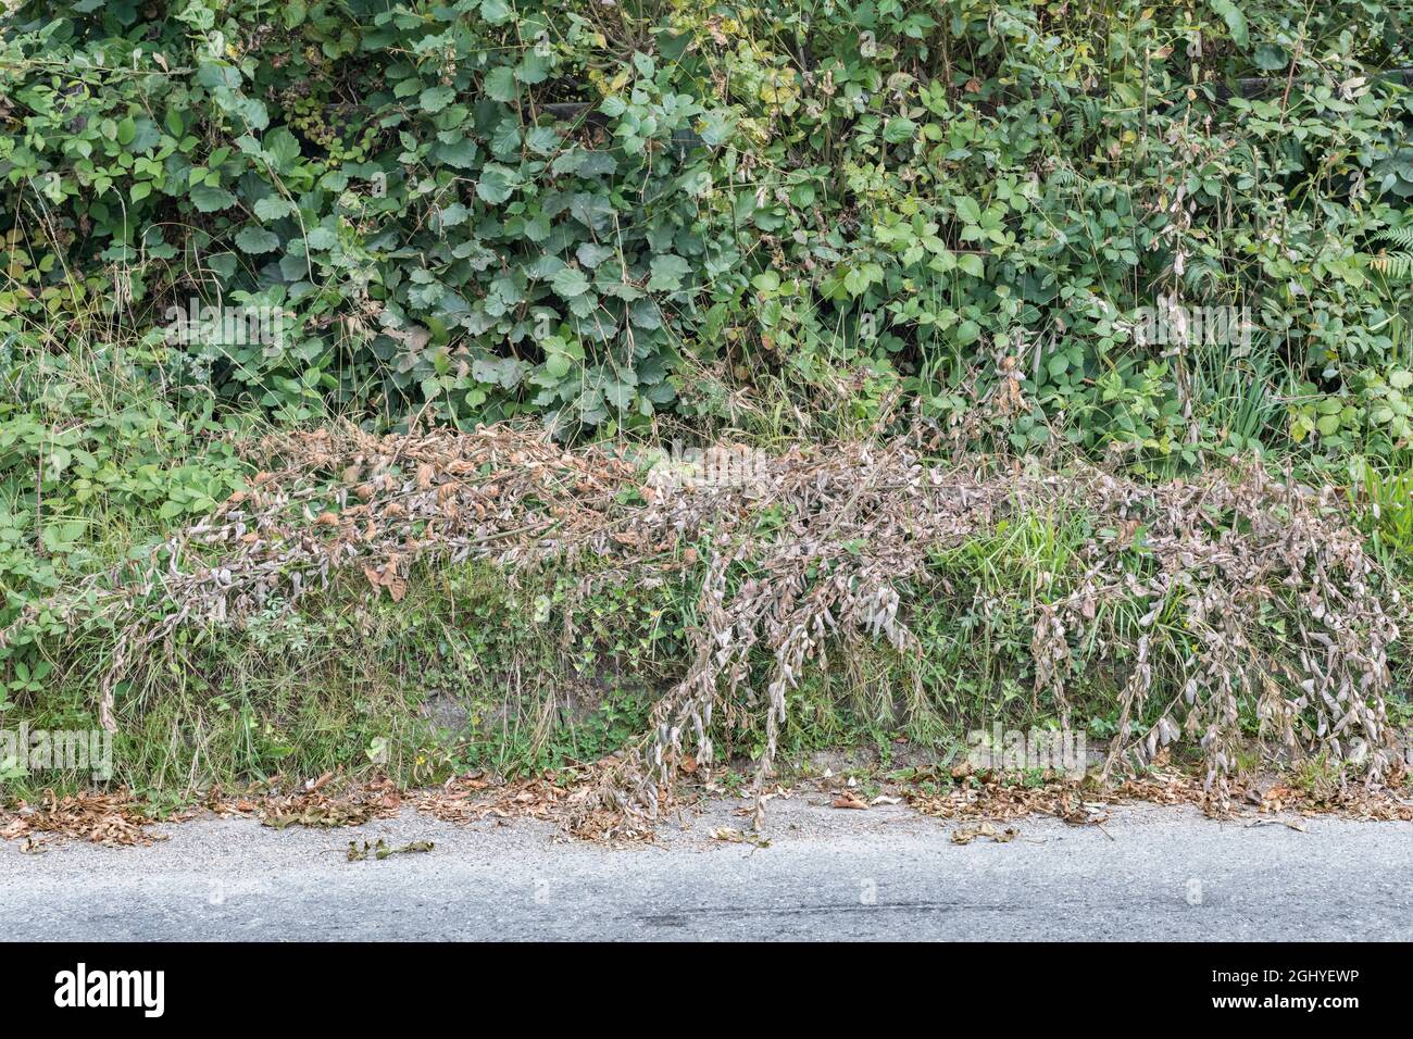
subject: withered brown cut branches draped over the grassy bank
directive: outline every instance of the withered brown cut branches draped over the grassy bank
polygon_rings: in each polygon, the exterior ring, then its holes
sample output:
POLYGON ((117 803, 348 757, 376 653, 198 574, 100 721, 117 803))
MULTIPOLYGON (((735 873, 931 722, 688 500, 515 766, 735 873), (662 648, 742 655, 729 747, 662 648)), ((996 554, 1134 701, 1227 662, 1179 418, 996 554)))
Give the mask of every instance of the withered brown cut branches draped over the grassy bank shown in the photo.
POLYGON ((1037 694, 1067 727, 1078 647, 1088 666, 1125 676, 1105 776, 1193 741, 1207 785, 1224 792, 1243 703, 1270 753, 1356 761, 1375 782, 1395 759, 1385 698, 1396 592, 1334 492, 1259 466, 1150 485, 1036 459, 934 465, 914 434, 752 455, 739 478, 726 465, 664 485, 623 448, 567 450, 507 425, 389 437, 339 427, 250 451, 261 472, 249 491, 148 564, 45 605, 75 629, 103 619, 122 633, 100 686, 105 725, 114 686, 154 666, 178 625, 239 626, 294 608, 341 570, 397 599, 415 564, 476 558, 516 575, 593 556, 601 581, 699 580, 685 677, 585 806, 653 817, 684 762, 711 763, 721 711, 763 715, 763 783, 787 690, 831 646, 872 638, 918 652, 906 595, 926 587, 935 553, 1017 516, 1082 515, 1118 533, 1089 541, 1074 573, 1037 575, 1031 657, 1037 694), (1143 551, 1128 551, 1139 533, 1143 551), (1143 606, 1136 639, 1115 629, 1116 602, 1143 606))

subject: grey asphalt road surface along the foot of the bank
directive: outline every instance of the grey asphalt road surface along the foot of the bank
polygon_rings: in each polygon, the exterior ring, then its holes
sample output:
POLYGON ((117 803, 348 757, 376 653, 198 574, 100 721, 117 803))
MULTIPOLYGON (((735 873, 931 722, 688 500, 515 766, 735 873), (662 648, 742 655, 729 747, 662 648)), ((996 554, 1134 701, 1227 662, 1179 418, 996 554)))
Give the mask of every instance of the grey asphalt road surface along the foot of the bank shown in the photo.
POLYGON ((1413 939, 1413 824, 1215 823, 1122 809, 1104 830, 1023 820, 959 845, 901 807, 773 802, 770 847, 712 840, 732 809, 654 847, 564 841, 545 824, 355 830, 247 820, 167 827, 147 848, 0 844, 10 940, 284 939, 1413 939), (349 840, 425 854, 349 862, 349 840))

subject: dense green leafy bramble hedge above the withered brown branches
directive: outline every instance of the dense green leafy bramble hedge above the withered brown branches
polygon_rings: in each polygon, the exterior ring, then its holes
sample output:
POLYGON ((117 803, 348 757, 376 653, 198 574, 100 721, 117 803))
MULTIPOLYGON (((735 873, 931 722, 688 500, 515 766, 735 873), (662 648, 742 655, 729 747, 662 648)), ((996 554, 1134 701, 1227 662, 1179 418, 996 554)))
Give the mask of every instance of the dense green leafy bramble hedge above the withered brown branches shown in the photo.
POLYGON ((1140 466, 1386 455, 1410 38, 1373 1, 21 3, 0 360, 99 321, 291 420, 842 386, 1140 466), (280 335, 164 339, 194 298, 280 335), (1159 300, 1251 335, 1137 342, 1159 300))

